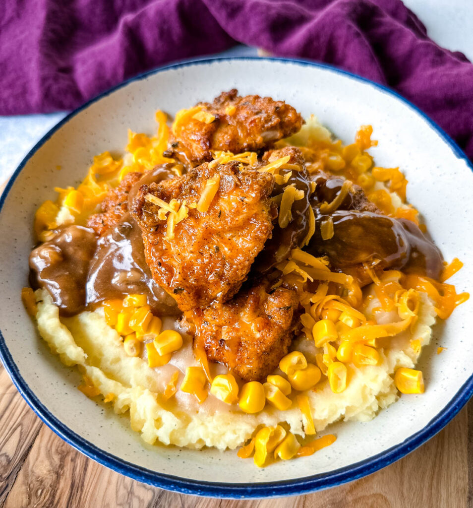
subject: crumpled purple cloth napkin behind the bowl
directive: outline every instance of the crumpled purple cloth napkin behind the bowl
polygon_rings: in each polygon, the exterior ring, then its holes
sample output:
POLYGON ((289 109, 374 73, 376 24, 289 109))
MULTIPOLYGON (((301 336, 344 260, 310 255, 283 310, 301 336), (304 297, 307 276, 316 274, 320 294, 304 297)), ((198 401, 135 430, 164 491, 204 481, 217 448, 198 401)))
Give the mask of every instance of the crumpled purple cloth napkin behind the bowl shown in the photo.
POLYGON ((432 42, 399 0, 1 4, 0 114, 73 109, 145 70, 241 42, 394 88, 473 160, 473 65, 432 42))

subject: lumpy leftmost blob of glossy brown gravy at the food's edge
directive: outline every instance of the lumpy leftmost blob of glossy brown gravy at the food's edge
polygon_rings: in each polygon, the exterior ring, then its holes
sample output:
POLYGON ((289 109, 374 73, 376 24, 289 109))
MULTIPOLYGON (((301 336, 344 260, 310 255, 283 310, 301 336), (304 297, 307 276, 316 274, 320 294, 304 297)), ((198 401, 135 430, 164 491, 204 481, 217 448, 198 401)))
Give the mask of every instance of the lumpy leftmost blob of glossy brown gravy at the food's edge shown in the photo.
POLYGON ((29 256, 33 287, 47 289, 61 315, 84 310, 85 284, 95 246, 92 229, 69 226, 29 256))

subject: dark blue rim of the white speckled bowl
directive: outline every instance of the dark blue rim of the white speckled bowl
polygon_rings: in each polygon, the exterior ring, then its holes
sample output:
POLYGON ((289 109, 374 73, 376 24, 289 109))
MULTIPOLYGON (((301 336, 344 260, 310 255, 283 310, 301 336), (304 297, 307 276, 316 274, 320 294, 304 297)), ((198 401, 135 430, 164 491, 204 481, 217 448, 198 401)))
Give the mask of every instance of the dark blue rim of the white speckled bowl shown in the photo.
MULTIPOLYGON (((241 56, 241 57, 213 57, 204 58, 199 60, 183 61, 173 63, 171 65, 159 67, 151 71, 142 73, 138 76, 130 78, 109 90, 100 93, 97 97, 86 102, 73 112, 66 115, 60 120, 53 128, 48 131, 41 139, 36 143, 35 146, 27 153, 20 163, 18 168, 13 173, 12 177, 8 181, 5 190, 0 197, 0 212, 3 209, 5 200, 7 198, 10 189, 15 182, 17 176, 26 165, 28 160, 33 154, 58 130, 61 126, 69 121, 71 118, 76 116, 79 112, 86 109, 91 104, 108 96, 110 93, 126 86, 127 84, 146 79, 148 76, 167 71, 170 69, 178 69, 182 67, 196 66, 196 65, 207 65, 216 61, 232 61, 232 60, 267 60, 277 61, 284 63, 295 63, 301 66, 316 67, 325 69, 343 76, 350 77, 356 81, 360 81, 375 88, 379 89, 383 93, 388 94, 391 97, 399 100, 406 104, 412 110, 417 112, 452 149, 457 158, 463 159, 467 166, 473 171, 473 166, 468 160, 465 153, 460 147, 453 141, 450 136, 445 133, 440 126, 438 126, 433 120, 431 120, 425 113, 423 113, 417 106, 412 104, 407 99, 404 99, 396 91, 388 88, 387 86, 375 83, 369 79, 357 76, 348 71, 337 69, 336 67, 327 65, 325 63, 314 62, 303 59, 292 59, 292 58, 279 58, 279 57, 257 57, 257 56, 241 56)), ((468 402, 470 397, 473 395, 473 374, 467 379, 462 385, 450 402, 419 432, 408 437, 403 442, 396 444, 395 446, 381 452, 377 455, 369 457, 365 460, 359 461, 355 464, 330 471, 328 473, 320 473, 310 475, 295 480, 282 480, 277 482, 260 482, 260 483, 218 483, 218 482, 206 482, 199 480, 189 480, 176 477, 174 475, 159 473, 150 469, 131 464, 125 460, 119 459, 111 453, 105 452, 99 449, 91 442, 87 441, 80 435, 73 432, 62 422, 60 422, 51 412, 41 403, 41 401, 32 392, 25 380, 21 376, 13 358, 6 346, 5 338, 0 330, 0 359, 2 360, 7 372, 9 373, 14 385, 32 408, 38 417, 59 437, 70 444, 73 448, 80 451, 87 457, 95 460, 99 464, 102 464, 110 469, 119 472, 129 478, 137 480, 139 482, 147 483, 155 487, 159 487, 166 490, 180 492, 184 494, 192 494, 198 496, 209 496, 219 498, 230 498, 230 499, 251 499, 251 498, 263 498, 263 497, 280 497, 290 495, 308 494, 318 490, 327 489, 342 485, 347 482, 351 482, 362 478, 368 474, 371 474, 389 464, 399 460, 400 458, 411 453, 413 450, 421 446, 425 441, 434 436, 437 432, 442 430, 452 419, 455 417, 460 409, 468 402)))

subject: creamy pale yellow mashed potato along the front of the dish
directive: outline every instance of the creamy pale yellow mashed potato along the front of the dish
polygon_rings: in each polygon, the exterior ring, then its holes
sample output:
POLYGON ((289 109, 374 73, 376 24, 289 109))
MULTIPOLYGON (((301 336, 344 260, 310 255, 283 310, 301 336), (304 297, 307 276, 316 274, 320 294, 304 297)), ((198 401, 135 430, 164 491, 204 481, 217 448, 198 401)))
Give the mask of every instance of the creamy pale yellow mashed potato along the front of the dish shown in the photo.
MULTIPOLYGON (((420 293, 420 297, 415 326, 393 338, 392 347, 381 350, 379 365, 356 368, 349 364, 349 383, 342 393, 333 393, 326 378, 315 390, 305 392, 317 431, 341 419, 370 420, 380 408, 397 399, 392 374, 399 367, 414 367, 419 352, 413 349, 411 341, 418 339, 422 345, 428 344, 430 327, 435 321, 427 295, 420 293)), ((175 397, 164 400, 162 392, 172 372, 179 369, 179 386, 184 365, 197 365, 190 337, 185 338, 170 364, 152 369, 146 358, 133 358, 125 353, 120 336, 106 324, 103 309, 60 318, 47 291, 37 290, 36 300, 38 328, 52 352, 65 365, 78 365, 100 394, 111 401, 117 414, 128 411, 131 428, 140 432, 147 443, 234 449, 244 444, 258 425, 275 426, 280 422, 287 422, 293 433, 304 435, 302 414, 295 402, 286 411, 266 405, 261 412, 248 415, 238 405, 224 404, 210 394, 201 405, 193 395, 180 390, 175 397)), ((376 299, 371 301, 368 313, 376 303, 376 299)), ((375 319, 387 322, 396 317, 395 313, 382 313, 382 317, 375 315, 375 319)), ((172 326, 172 322, 164 322, 164 328, 172 326)), ((292 348, 304 353, 309 361, 318 352, 314 342, 305 336, 296 339, 292 348)))

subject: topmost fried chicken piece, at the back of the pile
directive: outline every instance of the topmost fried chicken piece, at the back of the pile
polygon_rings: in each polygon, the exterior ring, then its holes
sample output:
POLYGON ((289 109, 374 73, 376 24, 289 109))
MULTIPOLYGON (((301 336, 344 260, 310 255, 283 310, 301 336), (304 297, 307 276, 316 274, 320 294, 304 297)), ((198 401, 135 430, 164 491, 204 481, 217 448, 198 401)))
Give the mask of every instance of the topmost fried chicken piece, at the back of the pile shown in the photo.
POLYGON ((179 123, 170 137, 166 156, 197 166, 212 160, 211 150, 255 151, 300 130, 302 117, 289 104, 270 97, 237 94, 238 90, 233 89, 222 92, 212 104, 197 104, 215 119, 206 123, 189 117, 179 123))

